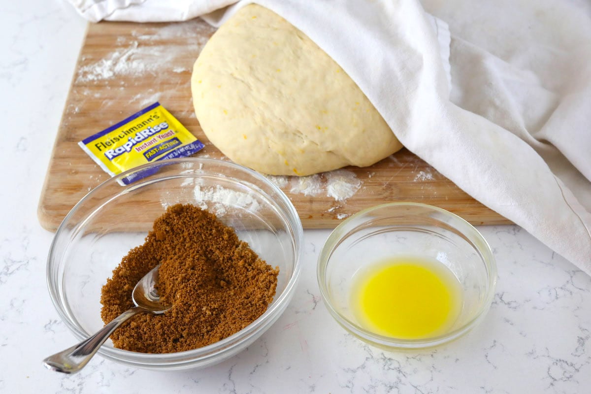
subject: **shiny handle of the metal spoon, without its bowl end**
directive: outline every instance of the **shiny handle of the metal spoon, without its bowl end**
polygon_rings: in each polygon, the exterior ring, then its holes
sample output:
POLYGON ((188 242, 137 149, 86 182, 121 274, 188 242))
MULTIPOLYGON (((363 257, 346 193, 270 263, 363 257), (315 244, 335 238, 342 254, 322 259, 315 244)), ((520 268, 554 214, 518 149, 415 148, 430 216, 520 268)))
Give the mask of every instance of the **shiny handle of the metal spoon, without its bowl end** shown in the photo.
POLYGON ((77 345, 74 345, 66 350, 62 350, 53 356, 47 357, 43 360, 43 363, 48 369, 63 372, 63 373, 76 373, 81 370, 86 363, 92 359, 99 347, 105 343, 107 338, 111 336, 119 325, 125 323, 132 316, 140 313, 147 312, 142 307, 134 307, 126 310, 121 315, 110 321, 101 328, 96 334, 90 338, 83 340, 77 345))

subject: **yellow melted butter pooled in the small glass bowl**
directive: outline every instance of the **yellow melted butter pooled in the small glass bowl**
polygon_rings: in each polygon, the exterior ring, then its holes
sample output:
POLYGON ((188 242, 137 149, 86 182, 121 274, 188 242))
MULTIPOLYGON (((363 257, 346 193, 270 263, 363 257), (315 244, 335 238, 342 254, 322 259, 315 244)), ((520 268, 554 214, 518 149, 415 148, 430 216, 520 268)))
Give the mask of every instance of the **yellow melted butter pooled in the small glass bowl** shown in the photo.
POLYGON ((436 260, 397 256, 356 273, 350 298, 359 324, 388 337, 446 333, 462 311, 462 287, 436 260))

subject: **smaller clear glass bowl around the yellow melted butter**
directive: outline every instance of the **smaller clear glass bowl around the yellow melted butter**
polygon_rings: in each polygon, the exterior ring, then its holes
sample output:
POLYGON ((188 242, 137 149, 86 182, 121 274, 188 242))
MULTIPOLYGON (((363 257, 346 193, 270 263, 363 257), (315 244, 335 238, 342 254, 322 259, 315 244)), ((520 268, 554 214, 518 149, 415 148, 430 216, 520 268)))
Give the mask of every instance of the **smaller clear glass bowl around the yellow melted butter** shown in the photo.
POLYGON ((389 203, 362 210, 336 227, 320 251, 317 279, 330 314, 354 336, 387 350, 421 349, 454 340, 482 321, 495 293, 496 265, 486 240, 461 217, 426 204, 389 203), (463 304, 443 334, 384 336, 356 317, 350 302, 356 273, 392 256, 441 263, 459 281, 463 304))

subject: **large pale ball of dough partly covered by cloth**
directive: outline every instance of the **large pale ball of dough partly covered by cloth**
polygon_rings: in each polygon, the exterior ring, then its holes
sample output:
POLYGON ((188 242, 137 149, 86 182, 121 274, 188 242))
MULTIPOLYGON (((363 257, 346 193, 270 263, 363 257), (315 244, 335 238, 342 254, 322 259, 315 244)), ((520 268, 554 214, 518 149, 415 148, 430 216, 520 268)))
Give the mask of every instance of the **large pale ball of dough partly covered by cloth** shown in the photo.
POLYGON ((210 38, 191 90, 207 138, 265 174, 365 167, 402 147, 332 58, 259 5, 240 9, 210 38))

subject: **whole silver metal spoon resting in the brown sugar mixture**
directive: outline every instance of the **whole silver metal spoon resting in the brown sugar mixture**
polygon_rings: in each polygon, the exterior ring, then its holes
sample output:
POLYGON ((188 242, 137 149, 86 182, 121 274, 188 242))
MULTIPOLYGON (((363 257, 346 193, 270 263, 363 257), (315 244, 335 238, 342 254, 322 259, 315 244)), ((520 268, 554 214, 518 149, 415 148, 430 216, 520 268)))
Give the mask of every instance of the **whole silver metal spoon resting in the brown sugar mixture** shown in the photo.
POLYGON ((111 336, 119 325, 125 323, 129 318, 142 312, 151 312, 161 314, 170 309, 170 305, 164 305, 160 301, 160 296, 154 288, 158 282, 158 268, 160 264, 154 267, 152 271, 144 275, 143 278, 135 285, 134 291, 131 293, 131 298, 136 305, 121 315, 110 321, 105 327, 101 328, 98 333, 92 337, 80 342, 69 349, 60 351, 53 356, 47 357, 43 363, 48 369, 63 372, 76 373, 81 370, 86 363, 92 359, 99 347, 105 343, 107 338, 111 336))

